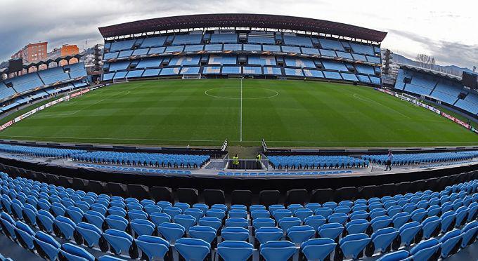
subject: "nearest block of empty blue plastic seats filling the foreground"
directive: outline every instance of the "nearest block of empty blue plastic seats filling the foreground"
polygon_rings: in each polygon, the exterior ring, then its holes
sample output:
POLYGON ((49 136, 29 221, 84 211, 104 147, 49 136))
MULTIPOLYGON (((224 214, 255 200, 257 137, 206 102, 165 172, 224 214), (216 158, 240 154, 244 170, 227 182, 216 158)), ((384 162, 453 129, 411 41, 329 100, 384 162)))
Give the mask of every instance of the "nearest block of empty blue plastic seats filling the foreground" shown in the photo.
POLYGON ((228 206, 0 178, 0 232, 49 260, 436 260, 478 232, 478 180, 355 201, 228 206))

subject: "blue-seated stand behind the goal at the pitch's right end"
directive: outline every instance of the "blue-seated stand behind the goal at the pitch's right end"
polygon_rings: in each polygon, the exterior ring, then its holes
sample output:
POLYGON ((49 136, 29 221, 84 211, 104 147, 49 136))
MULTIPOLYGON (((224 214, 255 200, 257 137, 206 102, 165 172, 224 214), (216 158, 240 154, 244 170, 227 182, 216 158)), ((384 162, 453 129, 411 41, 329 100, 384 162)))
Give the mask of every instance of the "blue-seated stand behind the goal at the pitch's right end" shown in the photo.
POLYGON ((448 106, 474 116, 478 115, 477 91, 465 88, 456 76, 402 66, 394 88, 422 98, 444 102, 448 106))

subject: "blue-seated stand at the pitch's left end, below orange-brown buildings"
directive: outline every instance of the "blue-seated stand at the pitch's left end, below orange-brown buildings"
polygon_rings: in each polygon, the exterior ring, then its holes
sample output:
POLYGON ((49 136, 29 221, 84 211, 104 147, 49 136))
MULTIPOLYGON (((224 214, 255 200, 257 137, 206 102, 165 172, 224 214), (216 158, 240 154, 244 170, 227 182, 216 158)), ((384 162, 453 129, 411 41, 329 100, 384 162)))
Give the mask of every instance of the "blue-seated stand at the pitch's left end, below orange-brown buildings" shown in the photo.
POLYGON ((30 72, 0 81, 0 112, 6 112, 53 93, 87 86, 86 77, 84 64, 79 62, 63 67, 51 67, 38 72, 30 72))

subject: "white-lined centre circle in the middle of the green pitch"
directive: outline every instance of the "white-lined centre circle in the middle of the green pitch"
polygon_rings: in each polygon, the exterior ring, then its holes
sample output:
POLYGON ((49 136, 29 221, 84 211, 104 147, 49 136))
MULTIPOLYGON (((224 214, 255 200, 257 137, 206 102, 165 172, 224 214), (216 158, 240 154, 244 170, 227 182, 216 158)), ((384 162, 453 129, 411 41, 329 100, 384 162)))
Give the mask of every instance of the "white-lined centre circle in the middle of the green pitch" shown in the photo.
MULTIPOLYGON (((240 87, 218 87, 210 88, 204 92, 205 95, 212 98, 240 100, 240 87)), ((243 87, 243 100, 259 100, 274 98, 279 95, 278 91, 268 88, 243 87), (256 91, 252 93, 250 90, 256 91)))

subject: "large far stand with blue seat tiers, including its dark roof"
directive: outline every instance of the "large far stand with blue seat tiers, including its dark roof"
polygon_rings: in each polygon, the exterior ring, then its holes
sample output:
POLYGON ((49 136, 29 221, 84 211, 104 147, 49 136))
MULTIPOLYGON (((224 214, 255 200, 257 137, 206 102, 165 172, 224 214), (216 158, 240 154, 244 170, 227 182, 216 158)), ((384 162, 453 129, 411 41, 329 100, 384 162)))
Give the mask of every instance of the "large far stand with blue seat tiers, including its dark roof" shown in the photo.
POLYGON ((205 14, 99 28, 103 81, 248 76, 378 86, 386 32, 283 15, 205 14))

